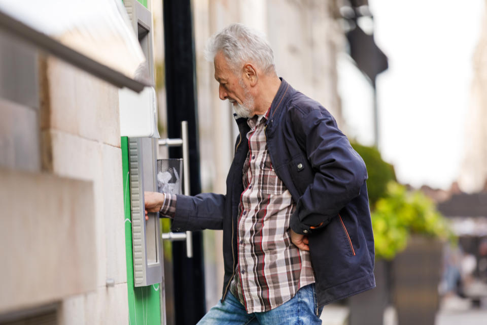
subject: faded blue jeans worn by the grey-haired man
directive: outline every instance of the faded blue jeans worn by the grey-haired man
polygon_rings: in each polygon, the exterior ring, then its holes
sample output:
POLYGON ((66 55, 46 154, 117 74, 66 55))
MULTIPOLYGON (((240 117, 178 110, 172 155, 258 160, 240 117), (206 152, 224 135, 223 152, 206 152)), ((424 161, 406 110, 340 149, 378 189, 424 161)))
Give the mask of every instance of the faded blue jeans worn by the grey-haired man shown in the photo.
POLYGON ((201 318, 198 325, 319 325, 322 310, 323 308, 317 307, 315 284, 300 288, 290 301, 279 307, 251 314, 248 314, 240 301, 228 292, 225 301, 220 300, 201 318))

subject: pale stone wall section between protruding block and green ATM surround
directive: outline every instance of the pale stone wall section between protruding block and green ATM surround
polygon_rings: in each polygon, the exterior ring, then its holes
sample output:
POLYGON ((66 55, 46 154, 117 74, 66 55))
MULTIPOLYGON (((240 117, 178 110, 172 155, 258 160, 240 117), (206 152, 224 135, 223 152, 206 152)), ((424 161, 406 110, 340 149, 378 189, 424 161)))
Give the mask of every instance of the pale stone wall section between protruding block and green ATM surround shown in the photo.
POLYGON ((95 289, 63 299, 60 323, 128 323, 118 89, 52 57, 40 74, 42 167, 93 184, 95 289))

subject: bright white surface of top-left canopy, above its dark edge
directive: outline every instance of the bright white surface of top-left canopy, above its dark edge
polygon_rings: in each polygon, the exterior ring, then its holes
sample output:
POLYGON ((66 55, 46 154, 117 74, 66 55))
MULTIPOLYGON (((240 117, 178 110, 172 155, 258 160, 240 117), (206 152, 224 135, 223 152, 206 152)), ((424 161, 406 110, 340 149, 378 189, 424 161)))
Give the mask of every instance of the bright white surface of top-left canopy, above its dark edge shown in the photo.
POLYGON ((0 13, 130 79, 152 84, 121 0, 0 0, 0 13))

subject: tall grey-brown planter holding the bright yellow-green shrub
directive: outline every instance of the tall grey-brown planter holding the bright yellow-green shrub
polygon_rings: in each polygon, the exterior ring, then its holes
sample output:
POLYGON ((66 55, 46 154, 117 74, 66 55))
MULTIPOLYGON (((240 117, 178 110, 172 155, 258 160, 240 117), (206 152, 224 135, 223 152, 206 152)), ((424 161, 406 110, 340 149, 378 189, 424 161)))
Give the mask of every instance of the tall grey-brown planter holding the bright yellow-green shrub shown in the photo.
POLYGON ((393 301, 398 325, 431 325, 438 310, 442 243, 412 236, 393 261, 393 301))

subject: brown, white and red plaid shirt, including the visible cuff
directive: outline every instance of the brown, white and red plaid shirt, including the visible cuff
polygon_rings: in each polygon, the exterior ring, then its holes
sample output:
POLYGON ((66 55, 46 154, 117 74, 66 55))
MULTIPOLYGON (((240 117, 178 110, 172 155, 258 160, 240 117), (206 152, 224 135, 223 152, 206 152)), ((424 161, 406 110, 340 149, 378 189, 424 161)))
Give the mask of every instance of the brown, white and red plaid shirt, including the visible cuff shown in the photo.
MULTIPOLYGON (((264 133, 266 120, 266 116, 248 119, 251 131, 243 164, 238 261, 230 283, 232 294, 248 313, 279 307, 299 288, 315 282, 309 252, 291 242, 289 219, 296 204, 272 167, 264 133)), ((175 211, 176 196, 166 195, 161 213, 173 217, 175 211)))

